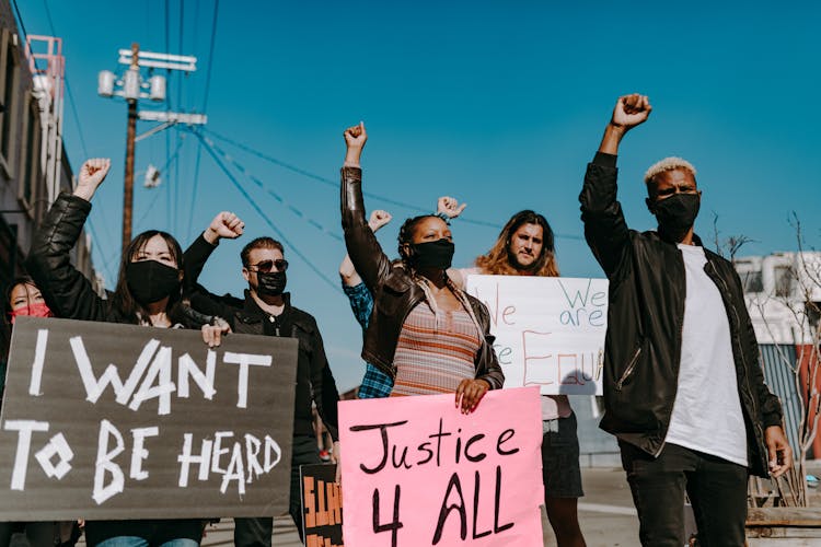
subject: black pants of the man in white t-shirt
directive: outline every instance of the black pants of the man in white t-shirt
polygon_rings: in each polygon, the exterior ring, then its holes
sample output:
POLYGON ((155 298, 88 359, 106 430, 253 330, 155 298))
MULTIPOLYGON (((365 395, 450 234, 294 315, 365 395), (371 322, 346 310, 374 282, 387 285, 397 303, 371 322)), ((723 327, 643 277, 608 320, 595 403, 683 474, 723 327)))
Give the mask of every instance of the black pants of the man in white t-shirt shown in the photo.
POLYGON ((654 458, 618 442, 633 492, 641 545, 684 545, 684 492, 690 496, 703 547, 744 545, 747 467, 675 444, 654 458))

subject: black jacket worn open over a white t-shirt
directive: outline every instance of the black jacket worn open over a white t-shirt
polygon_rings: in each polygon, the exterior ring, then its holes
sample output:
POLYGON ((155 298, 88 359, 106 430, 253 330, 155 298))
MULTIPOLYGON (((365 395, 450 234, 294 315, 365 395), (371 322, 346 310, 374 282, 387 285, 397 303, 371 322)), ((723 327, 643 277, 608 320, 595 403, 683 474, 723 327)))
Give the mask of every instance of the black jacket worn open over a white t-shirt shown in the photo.
MULTIPOLYGON (((675 244, 656 232, 628 230, 616 200, 616 156, 598 153, 579 196, 585 236, 610 280, 600 427, 650 454, 663 446, 678 389, 686 280, 675 244)), ((701 245, 701 241, 696 238, 701 245)), ((767 473, 764 429, 780 426, 778 398, 764 384, 759 348, 732 265, 704 249, 707 276, 727 310, 748 462, 767 473)))

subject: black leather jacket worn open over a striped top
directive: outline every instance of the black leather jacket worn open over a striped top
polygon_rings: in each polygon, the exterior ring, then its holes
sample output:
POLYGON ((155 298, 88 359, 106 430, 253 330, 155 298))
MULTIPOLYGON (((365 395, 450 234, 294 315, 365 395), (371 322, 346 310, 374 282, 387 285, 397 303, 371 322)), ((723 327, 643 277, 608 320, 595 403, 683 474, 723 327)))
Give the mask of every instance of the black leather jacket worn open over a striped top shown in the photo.
MULTIPOLYGON (((362 170, 359 167, 342 170, 342 220, 350 260, 373 294, 373 312, 365 334, 362 359, 395 379, 393 358, 402 326, 410 310, 425 300, 425 292, 402 266, 391 263, 368 226, 362 203, 362 170)), ((484 333, 474 359, 475 377, 485 380, 492 389, 498 389, 505 383, 505 374, 493 349, 495 338, 490 335, 490 315, 482 302, 470 294, 466 296, 484 333)))

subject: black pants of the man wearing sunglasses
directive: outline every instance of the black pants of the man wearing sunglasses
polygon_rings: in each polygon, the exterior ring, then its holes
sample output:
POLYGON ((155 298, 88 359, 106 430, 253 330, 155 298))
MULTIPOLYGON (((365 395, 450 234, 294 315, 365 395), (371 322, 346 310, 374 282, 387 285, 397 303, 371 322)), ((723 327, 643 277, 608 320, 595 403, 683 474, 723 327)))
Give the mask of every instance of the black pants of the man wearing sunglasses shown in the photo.
MULTIPOLYGON (((291 492, 288 513, 297 525, 299 537, 302 539, 302 491, 299 480, 299 466, 321 464, 320 451, 315 437, 294 437, 291 455, 291 492)), ((259 516, 234 519, 234 545, 236 547, 270 547, 270 536, 274 532, 274 519, 259 516)))

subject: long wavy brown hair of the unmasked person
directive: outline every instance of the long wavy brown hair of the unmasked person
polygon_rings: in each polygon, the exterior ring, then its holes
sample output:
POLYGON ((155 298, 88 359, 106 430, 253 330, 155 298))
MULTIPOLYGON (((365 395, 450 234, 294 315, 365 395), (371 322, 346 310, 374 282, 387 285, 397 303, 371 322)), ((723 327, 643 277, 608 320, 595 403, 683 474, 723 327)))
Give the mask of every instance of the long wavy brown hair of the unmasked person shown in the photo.
POLYGON ((510 238, 523 224, 542 226, 542 253, 536 257, 533 266, 528 268, 528 271, 532 271, 535 276, 558 277, 553 229, 547 219, 529 209, 513 214, 499 232, 499 237, 490 247, 490 251, 476 258, 475 264, 483 274, 494 276, 517 276, 521 274, 520 269, 511 265, 513 257, 510 256, 510 238))

